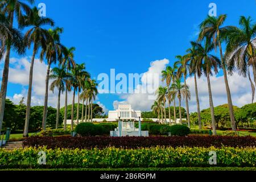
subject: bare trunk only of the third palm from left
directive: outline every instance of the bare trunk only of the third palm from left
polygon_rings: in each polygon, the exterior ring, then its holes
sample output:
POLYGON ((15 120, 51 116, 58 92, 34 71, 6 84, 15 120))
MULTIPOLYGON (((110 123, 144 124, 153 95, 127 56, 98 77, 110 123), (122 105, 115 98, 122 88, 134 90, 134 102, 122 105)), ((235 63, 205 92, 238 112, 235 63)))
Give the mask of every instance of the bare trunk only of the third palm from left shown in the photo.
POLYGON ((49 59, 47 73, 46 73, 46 94, 44 96, 44 112, 43 112, 43 130, 46 130, 46 119, 47 119, 47 106, 48 106, 48 90, 49 90, 49 71, 51 69, 51 58, 49 59))

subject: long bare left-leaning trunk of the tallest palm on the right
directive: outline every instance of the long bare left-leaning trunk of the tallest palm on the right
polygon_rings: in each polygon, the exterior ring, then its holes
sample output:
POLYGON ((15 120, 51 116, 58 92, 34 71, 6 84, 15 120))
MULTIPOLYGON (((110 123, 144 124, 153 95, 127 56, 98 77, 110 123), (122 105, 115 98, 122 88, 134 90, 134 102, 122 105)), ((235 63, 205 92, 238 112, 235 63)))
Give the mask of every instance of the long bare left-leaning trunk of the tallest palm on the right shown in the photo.
POLYGON ((234 119, 233 103, 232 103, 231 93, 230 93, 230 89, 229 89, 228 76, 226 74, 226 64, 225 64, 225 61, 223 59, 221 42, 220 41, 218 41, 218 47, 220 48, 221 63, 222 63, 223 75, 224 75, 225 86, 226 86, 226 95, 228 97, 230 122, 231 122, 232 130, 236 131, 236 121, 234 119))

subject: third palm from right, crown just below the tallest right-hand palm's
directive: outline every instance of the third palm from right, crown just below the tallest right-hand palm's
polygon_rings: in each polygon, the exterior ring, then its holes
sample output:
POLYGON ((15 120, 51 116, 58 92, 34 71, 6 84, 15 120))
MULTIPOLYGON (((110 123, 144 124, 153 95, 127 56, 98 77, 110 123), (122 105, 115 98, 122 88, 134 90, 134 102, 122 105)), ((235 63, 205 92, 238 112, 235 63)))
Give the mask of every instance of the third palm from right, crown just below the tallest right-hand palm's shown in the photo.
POLYGON ((212 75, 212 70, 215 74, 218 73, 218 68, 221 67, 221 61, 218 57, 211 55, 209 52, 214 48, 214 44, 210 43, 209 40, 205 40, 204 47, 200 43, 193 43, 197 49, 197 59, 198 65, 201 65, 204 75, 207 76, 208 92, 209 92, 209 105, 210 105, 210 115, 212 117, 212 129, 213 135, 216 135, 216 122, 214 117, 214 106, 212 100, 212 89, 210 88, 210 76, 212 75))

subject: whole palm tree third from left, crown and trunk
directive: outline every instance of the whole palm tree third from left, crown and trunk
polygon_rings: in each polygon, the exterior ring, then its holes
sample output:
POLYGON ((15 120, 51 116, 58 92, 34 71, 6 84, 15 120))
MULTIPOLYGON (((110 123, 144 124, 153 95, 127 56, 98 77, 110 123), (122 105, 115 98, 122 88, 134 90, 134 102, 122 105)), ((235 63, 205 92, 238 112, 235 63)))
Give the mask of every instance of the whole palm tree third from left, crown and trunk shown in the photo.
POLYGON ((44 111, 43 111, 43 130, 46 130, 46 119, 47 119, 47 107, 48 107, 48 89, 49 89, 49 72, 51 69, 51 64, 55 64, 57 60, 62 59, 62 49, 63 46, 60 44, 60 34, 63 32, 63 28, 49 29, 49 39, 47 41, 46 49, 42 49, 41 59, 46 56, 47 59, 47 73, 46 73, 46 93, 44 96, 44 111))

